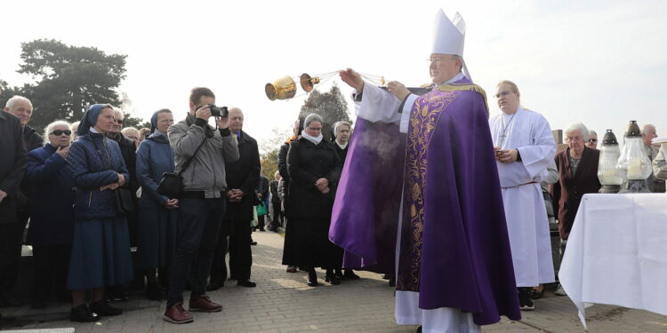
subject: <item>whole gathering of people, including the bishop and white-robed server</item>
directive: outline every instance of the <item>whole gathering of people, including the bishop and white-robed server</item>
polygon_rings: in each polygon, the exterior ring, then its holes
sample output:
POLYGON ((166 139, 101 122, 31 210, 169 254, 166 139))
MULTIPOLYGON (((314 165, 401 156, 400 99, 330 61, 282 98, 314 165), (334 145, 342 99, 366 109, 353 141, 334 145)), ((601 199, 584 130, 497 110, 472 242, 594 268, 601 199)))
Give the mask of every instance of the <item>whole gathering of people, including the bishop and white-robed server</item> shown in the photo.
MULTIPOLYGON (((2 305, 20 305, 13 290, 29 221, 30 305, 71 302, 71 321, 121 314, 109 302, 127 298, 129 284, 148 299, 165 297, 165 321, 220 312, 206 291, 228 278, 256 286, 254 229, 284 230, 286 272, 305 272, 311 287, 317 268, 332 285, 359 279, 353 269, 389 275, 398 323, 424 331, 474 332, 534 310, 556 281, 550 223, 562 254, 583 194, 601 186, 599 138, 572 123, 559 147, 547 119, 523 107, 507 80, 494 91, 501 112, 489 117, 462 59, 461 29, 451 27, 447 36, 459 37, 441 39, 430 57, 429 98, 342 71, 358 104, 354 135, 340 121, 328 140, 320 115, 296 120, 271 181, 243 111, 213 115, 207 88, 190 92, 178 123, 160 109, 150 129, 124 128, 120 110, 95 104, 80 122, 48 124, 44 136, 28 125, 30 100, 9 99, 0 112, 2 305), (180 180, 179 195, 161 189, 167 174, 180 180)), ((651 141, 654 125, 641 134, 654 169, 648 187, 665 192, 667 152, 651 141)))

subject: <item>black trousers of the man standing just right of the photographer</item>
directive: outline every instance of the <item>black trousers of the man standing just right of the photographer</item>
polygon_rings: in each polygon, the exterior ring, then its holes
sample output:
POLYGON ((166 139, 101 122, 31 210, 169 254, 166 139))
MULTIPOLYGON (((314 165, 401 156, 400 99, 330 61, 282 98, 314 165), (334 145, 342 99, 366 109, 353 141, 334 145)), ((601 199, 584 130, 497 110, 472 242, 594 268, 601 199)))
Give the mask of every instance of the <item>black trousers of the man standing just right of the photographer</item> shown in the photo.
POLYGON ((242 281, 250 279, 250 267, 253 266, 253 250, 250 246, 251 232, 250 221, 225 220, 223 222, 211 267, 211 282, 222 283, 227 280, 225 255, 228 250, 230 278, 242 281))

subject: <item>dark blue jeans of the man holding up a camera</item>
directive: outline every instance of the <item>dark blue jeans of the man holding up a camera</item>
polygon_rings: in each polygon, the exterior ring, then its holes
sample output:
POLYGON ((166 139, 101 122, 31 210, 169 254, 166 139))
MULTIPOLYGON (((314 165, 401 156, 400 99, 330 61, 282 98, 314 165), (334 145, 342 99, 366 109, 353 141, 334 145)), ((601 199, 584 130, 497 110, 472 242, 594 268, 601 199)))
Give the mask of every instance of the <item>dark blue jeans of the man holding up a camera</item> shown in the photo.
POLYGON ((167 307, 183 301, 183 290, 190 269, 190 298, 205 294, 206 280, 226 207, 227 202, 221 198, 183 198, 179 201, 176 255, 170 267, 167 307))

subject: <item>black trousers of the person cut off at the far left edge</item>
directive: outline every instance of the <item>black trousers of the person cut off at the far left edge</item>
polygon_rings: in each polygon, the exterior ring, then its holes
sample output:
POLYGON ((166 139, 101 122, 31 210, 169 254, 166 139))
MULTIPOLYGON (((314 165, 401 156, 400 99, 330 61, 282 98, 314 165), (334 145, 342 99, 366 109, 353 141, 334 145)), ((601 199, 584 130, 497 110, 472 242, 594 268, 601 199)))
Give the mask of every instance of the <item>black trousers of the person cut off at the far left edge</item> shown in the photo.
POLYGON ((0 293, 11 291, 19 275, 20 251, 28 217, 19 214, 18 223, 0 224, 0 293))

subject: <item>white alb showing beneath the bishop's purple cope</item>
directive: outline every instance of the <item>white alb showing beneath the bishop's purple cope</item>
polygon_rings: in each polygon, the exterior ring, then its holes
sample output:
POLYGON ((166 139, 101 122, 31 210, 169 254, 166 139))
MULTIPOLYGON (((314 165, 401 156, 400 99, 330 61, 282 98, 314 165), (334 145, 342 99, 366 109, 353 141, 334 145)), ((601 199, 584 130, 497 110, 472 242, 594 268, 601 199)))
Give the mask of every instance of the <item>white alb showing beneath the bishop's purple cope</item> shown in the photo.
MULTIPOLYGON (((459 73, 446 83, 459 81, 462 78, 462 73, 459 73)), ((398 107, 401 104, 400 100, 388 91, 384 91, 370 83, 365 83, 362 100, 355 102, 355 114, 370 122, 398 123, 400 131, 406 133, 410 110, 413 107, 414 101, 418 98, 419 96, 411 94, 406 99, 406 104, 401 113, 398 113, 398 107)), ((402 194, 401 198, 403 198, 402 194)), ((398 213, 396 272, 398 272, 398 251, 400 251, 402 216, 403 202, 401 202, 401 210, 398 213)), ((433 310, 420 309, 419 292, 415 291, 396 291, 395 317, 396 322, 401 325, 422 325, 423 333, 481 332, 479 325, 475 324, 472 319, 472 313, 462 313, 460 309, 451 307, 441 307, 433 310)))

